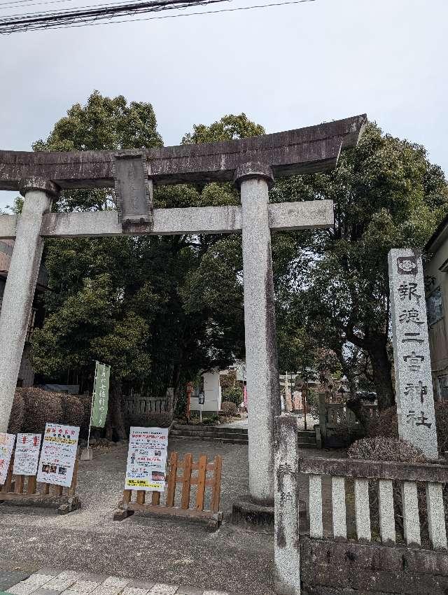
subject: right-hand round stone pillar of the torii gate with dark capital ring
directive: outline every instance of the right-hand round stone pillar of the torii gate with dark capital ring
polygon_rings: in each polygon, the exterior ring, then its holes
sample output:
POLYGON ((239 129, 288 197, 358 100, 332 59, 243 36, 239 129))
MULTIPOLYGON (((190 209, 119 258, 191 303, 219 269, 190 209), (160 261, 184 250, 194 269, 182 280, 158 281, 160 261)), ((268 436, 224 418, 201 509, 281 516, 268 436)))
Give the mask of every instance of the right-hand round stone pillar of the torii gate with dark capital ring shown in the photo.
POLYGON ((249 491, 262 505, 274 502, 274 418, 281 412, 276 354, 274 281, 268 185, 272 170, 247 163, 235 172, 241 189, 244 327, 248 393, 249 491))

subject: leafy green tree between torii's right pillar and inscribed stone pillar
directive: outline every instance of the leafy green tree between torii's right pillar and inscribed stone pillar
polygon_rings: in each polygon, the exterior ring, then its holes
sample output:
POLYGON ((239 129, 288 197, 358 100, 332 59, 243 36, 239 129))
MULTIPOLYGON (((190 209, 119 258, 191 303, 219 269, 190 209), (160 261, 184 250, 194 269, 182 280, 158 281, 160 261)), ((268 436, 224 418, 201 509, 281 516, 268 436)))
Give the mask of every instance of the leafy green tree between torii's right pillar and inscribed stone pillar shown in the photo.
POLYGON ((353 346, 366 353, 367 376, 380 407, 388 407, 394 398, 387 254, 393 247, 423 248, 447 213, 442 170, 428 161, 423 146, 370 124, 358 147, 342 153, 337 169, 280 181, 272 198, 334 201, 334 229, 290 237, 295 257, 280 279, 280 312, 337 353, 347 373, 353 346))

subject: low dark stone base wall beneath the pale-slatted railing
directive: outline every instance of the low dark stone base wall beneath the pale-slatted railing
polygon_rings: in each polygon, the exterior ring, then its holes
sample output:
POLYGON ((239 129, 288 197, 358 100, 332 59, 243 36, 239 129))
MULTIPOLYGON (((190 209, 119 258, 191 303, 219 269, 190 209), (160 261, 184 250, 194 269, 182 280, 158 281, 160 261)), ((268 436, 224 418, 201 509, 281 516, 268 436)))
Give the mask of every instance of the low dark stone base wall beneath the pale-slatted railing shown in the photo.
POLYGON ((447 595, 448 554, 300 535, 303 595, 447 595))

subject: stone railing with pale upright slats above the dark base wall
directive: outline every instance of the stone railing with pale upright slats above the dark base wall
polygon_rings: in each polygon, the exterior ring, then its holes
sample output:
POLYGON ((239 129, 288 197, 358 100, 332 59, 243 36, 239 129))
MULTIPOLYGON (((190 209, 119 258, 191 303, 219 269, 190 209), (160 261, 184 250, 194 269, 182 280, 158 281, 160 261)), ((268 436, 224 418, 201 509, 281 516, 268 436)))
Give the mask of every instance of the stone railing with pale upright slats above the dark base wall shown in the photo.
POLYGON ((402 519, 407 545, 421 545, 421 523, 417 484, 426 491, 426 512, 430 545, 447 549, 442 486, 448 483, 448 467, 432 464, 358 461, 351 458, 307 458, 298 461, 300 473, 309 477, 309 536, 323 538, 322 476, 331 478, 332 536, 347 537, 346 478, 353 482, 356 537, 372 541, 369 482, 378 495, 379 536, 392 545, 395 537, 393 482, 399 482, 402 495, 402 519))

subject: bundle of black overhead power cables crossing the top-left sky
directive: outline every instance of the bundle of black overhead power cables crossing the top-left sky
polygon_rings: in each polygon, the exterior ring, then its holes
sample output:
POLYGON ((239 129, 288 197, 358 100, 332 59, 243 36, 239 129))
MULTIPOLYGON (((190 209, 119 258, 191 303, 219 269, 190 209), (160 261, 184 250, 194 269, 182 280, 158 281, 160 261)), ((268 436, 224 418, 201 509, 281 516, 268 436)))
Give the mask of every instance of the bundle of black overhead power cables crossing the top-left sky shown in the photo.
MULTIPOLYGON (((20 1, 20 0, 18 0, 20 1)), ((58 0, 59 1, 59 0, 58 0)), ((63 0, 61 0, 63 1, 63 0)), ((24 31, 37 31, 41 29, 71 29, 72 27, 91 27, 93 25, 115 25, 123 22, 136 22, 146 20, 160 20, 166 18, 179 18, 179 17, 190 17, 197 15, 211 15, 218 13, 237 12, 239 10, 253 10, 255 8, 270 8, 273 6, 286 6, 292 4, 302 4, 315 2, 316 0, 285 0, 281 2, 272 2, 267 4, 255 4, 253 6, 239 6, 237 8, 222 8, 220 10, 204 10, 202 12, 195 13, 180 13, 176 15, 163 15, 157 17, 148 18, 135 18, 135 19, 121 19, 116 20, 121 14, 134 15, 137 13, 151 13, 159 12, 160 10, 169 10, 173 8, 188 8, 189 6, 204 6, 209 3, 216 3, 229 0, 170 0, 165 2, 140 2, 137 4, 127 3, 123 6, 111 6, 110 4, 99 5, 103 6, 101 10, 92 8, 92 10, 76 11, 73 10, 71 13, 64 11, 55 11, 51 15, 45 16, 48 13, 36 13, 32 15, 17 15, 11 21, 8 22, 8 18, 0 20, 0 34, 11 34, 15 32, 24 31), (173 6, 174 5, 174 6, 173 6), (22 18, 19 18, 22 16, 22 18), (77 21, 81 22, 77 22, 77 21)), ((48 11, 51 13, 51 11, 48 11)))

